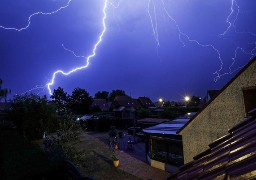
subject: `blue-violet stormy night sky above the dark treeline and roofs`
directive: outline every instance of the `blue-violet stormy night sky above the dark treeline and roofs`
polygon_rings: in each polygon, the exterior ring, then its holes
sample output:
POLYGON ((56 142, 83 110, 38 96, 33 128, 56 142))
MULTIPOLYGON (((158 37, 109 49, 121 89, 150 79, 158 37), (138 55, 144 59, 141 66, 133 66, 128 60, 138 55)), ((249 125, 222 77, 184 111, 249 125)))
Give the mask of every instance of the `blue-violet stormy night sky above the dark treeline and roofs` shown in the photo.
MULTIPOLYGON (((61 86, 71 93, 81 87, 91 96, 123 89, 153 101, 204 97, 256 53, 255 0, 108 1, 106 32, 89 67, 58 74, 51 89, 61 86)), ((0 78, 12 95, 37 86, 44 89, 31 92, 48 94, 54 71, 85 64, 71 51, 92 54, 103 30, 104 0, 72 0, 57 13, 33 16, 23 31, 5 29, 25 27, 31 14, 53 12, 67 2, 0 0, 0 78)))

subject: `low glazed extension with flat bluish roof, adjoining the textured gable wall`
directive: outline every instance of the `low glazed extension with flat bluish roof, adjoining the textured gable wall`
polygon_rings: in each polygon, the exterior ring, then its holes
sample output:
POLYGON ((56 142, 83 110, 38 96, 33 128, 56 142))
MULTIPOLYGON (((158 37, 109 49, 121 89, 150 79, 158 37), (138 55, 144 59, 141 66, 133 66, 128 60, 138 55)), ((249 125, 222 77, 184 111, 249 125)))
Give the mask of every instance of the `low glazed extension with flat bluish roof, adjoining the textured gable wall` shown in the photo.
POLYGON ((188 121, 186 118, 175 119, 142 130, 146 157, 151 166, 173 173, 183 165, 182 136, 176 133, 188 121))

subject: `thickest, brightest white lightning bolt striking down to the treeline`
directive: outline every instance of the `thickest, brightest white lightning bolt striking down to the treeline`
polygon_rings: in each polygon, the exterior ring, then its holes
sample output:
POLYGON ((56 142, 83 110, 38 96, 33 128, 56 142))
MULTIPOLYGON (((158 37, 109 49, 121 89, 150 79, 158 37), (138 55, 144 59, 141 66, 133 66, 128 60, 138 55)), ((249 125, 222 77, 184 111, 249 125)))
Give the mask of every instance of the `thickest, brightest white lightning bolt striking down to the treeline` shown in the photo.
MULTIPOLYGON (((100 35, 99 35, 98 41, 95 43, 95 45, 94 45, 94 47, 93 47, 92 54, 85 58, 85 59, 86 59, 86 62, 85 62, 85 65, 84 65, 84 66, 80 66, 80 67, 74 68, 74 69, 72 69, 72 70, 70 70, 70 71, 68 71, 68 72, 64 72, 64 71, 62 71, 62 70, 57 70, 57 71, 55 71, 55 72, 53 73, 53 75, 52 75, 51 81, 46 84, 50 95, 52 95, 51 86, 54 84, 55 78, 56 78, 56 75, 57 75, 57 74, 62 74, 62 75, 68 76, 68 75, 70 75, 70 74, 72 74, 72 73, 74 73, 74 72, 76 72, 76 71, 80 71, 80 70, 82 70, 82 69, 85 69, 85 68, 87 68, 87 67, 89 66, 91 58, 93 58, 93 57, 96 55, 96 50, 97 50, 99 44, 102 42, 103 35, 104 35, 105 31, 106 31, 106 23, 105 23, 105 20, 106 20, 106 18, 107 18, 107 14, 106 14, 107 3, 108 3, 108 0, 105 0, 104 7, 103 7, 103 10, 102 10, 103 15, 104 15, 103 18, 102 18, 103 30, 102 30, 102 32, 101 32, 100 35)), ((72 52, 72 51, 71 51, 71 52, 72 52)))

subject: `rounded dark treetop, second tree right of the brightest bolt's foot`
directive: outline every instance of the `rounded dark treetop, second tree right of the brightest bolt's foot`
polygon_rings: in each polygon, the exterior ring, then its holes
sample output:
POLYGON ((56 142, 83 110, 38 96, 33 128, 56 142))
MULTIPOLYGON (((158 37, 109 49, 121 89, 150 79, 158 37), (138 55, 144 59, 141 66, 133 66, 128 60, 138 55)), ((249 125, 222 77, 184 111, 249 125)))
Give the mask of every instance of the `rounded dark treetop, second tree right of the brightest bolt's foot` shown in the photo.
POLYGON ((70 96, 69 104, 74 114, 84 114, 91 110, 93 99, 85 89, 75 88, 70 96))

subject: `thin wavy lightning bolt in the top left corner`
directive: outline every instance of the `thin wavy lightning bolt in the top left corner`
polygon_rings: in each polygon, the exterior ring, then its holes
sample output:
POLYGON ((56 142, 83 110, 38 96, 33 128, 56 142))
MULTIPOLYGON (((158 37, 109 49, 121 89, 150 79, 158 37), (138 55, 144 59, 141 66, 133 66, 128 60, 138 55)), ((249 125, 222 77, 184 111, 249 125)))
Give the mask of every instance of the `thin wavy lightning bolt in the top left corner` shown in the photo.
POLYGON ((27 22, 27 25, 22 27, 22 28, 14 28, 14 27, 4 27, 4 26, 0 26, 0 28, 2 29, 5 29, 5 30, 14 30, 14 31, 23 31, 23 30, 26 30, 30 27, 30 24, 31 24, 31 19, 34 17, 34 16, 37 16, 37 15, 52 15, 52 14, 55 14, 55 13, 58 13, 59 11, 63 10, 63 9, 66 9, 69 4, 71 3, 72 0, 68 0, 67 4, 65 6, 61 6, 60 8, 58 8, 57 10, 55 11, 52 11, 52 12, 35 12, 33 14, 31 14, 29 17, 28 17, 28 22, 27 22))

